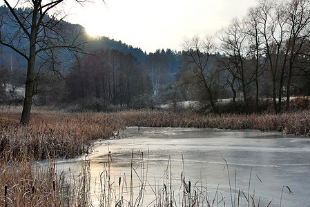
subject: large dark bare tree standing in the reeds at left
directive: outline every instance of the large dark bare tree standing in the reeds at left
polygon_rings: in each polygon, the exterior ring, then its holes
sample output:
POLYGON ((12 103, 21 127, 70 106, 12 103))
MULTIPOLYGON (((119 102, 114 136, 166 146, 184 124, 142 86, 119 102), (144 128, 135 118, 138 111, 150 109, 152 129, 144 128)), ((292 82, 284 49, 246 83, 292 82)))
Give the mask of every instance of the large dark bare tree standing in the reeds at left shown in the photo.
POLYGON ((7 8, 1 8, 3 11, 0 21, 0 43, 24 57, 28 65, 22 124, 28 124, 30 121, 38 57, 52 55, 51 51, 64 48, 71 52, 81 51, 78 37, 83 31, 82 28, 76 31, 73 26, 68 27, 68 24, 62 21, 62 12, 56 10, 64 1, 17 1, 13 5, 4 0, 7 8), (24 6, 26 8, 21 8, 24 6))

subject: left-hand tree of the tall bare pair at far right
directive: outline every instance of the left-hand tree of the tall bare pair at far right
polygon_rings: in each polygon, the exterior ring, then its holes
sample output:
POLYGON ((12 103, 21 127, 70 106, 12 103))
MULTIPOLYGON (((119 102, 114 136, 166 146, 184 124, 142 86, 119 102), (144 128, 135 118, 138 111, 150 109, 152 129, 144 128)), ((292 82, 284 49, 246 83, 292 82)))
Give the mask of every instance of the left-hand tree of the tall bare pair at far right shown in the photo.
POLYGON ((259 2, 258 24, 262 35, 264 54, 267 57, 268 69, 271 74, 273 87, 273 108, 276 112, 281 111, 282 90, 284 83, 285 59, 284 52, 285 19, 284 10, 281 5, 273 1, 262 0, 259 2), (278 90, 277 90, 278 88, 278 90), (278 92, 278 103, 277 99, 278 92))

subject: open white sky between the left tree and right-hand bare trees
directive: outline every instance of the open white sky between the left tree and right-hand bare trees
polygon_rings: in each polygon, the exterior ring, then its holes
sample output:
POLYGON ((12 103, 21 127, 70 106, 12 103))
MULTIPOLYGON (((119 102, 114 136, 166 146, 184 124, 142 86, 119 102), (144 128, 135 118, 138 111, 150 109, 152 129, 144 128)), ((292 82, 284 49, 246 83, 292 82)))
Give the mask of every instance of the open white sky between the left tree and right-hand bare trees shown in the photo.
POLYGON ((67 21, 79 23, 91 36, 121 40, 146 52, 182 50, 184 39, 214 34, 234 17, 242 18, 255 0, 106 0, 67 3, 67 21), (106 4, 105 4, 106 3, 106 4))

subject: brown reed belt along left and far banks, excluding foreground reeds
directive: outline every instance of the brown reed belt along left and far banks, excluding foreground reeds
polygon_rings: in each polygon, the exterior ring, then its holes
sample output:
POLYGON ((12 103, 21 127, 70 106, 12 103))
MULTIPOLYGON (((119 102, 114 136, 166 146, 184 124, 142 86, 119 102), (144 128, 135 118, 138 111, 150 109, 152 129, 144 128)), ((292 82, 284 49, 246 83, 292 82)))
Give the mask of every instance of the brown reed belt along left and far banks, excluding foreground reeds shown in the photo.
MULTIPOLYGON (((76 157, 89 152, 94 139, 113 137, 126 126, 220 128, 279 131, 310 137, 310 110, 281 115, 201 115, 193 112, 129 110, 69 113, 35 110, 28 126, 20 125, 19 112, 0 110, 0 155, 31 159, 76 157)), ((3 157, 3 156, 2 156, 3 157)))

